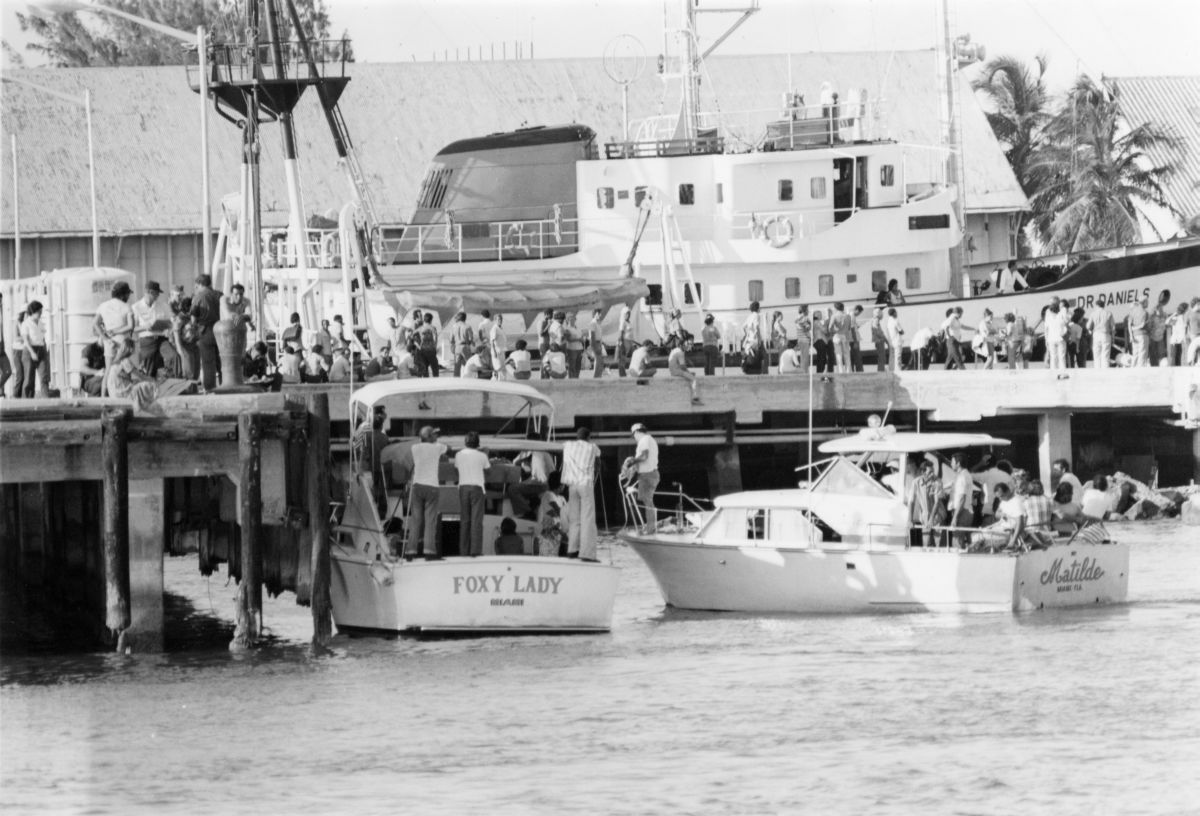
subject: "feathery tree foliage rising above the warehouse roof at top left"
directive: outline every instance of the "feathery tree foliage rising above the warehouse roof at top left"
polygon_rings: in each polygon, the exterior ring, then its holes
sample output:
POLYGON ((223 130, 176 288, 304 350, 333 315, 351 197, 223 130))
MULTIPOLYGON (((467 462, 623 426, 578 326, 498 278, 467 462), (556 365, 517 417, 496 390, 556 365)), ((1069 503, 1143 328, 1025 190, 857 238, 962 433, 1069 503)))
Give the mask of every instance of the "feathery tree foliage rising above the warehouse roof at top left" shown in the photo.
MULTIPOLYGON (((281 11, 280 37, 292 38, 287 7, 283 0, 277 0, 277 4, 281 11)), ((251 38, 245 0, 106 0, 103 5, 182 31, 196 31, 204 25, 210 42, 248 42, 251 38)), ((307 37, 330 40, 325 0, 295 0, 295 5, 307 37)), ((29 31, 35 37, 26 49, 56 67, 182 65, 196 60, 194 53, 190 53, 180 41, 103 12, 18 13, 17 20, 22 31, 29 31)), ((259 38, 265 36, 265 31, 263 12, 259 38)), ((340 47, 334 50, 341 55, 340 47)), ((18 64, 22 61, 8 43, 5 43, 5 52, 18 64)), ((347 59, 354 59, 348 42, 347 59)))

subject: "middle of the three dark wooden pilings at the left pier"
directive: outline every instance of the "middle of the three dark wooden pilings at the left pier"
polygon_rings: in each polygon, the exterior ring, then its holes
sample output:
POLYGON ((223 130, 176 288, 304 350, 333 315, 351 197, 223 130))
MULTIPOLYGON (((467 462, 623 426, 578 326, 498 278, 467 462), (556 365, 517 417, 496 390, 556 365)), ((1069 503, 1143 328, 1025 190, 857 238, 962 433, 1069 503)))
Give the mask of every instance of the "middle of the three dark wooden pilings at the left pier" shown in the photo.
POLYGON ((263 438, 259 416, 238 415, 238 460, 241 497, 241 583, 238 586, 235 625, 230 649, 250 648, 262 634, 263 581, 260 562, 263 532, 263 438))

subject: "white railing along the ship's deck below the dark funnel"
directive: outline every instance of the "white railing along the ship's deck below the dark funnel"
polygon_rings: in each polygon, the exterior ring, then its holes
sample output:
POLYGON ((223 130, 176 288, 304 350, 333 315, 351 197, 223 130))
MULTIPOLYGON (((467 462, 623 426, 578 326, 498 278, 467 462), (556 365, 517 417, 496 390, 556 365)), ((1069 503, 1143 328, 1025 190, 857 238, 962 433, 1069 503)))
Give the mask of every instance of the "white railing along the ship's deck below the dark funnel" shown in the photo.
POLYGON ((383 264, 532 260, 578 251, 578 218, 389 224, 378 238, 383 264), (398 234, 397 234, 398 233, 398 234))

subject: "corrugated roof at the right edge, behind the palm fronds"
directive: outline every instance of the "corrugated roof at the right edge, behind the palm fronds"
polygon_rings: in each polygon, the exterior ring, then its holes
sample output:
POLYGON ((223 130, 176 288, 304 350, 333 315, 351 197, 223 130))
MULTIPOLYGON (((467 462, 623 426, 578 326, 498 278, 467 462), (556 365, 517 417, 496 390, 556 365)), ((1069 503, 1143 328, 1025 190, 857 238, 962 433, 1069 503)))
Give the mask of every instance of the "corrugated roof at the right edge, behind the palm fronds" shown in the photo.
POLYGON ((1130 126, 1153 121, 1178 139, 1176 148, 1156 148, 1148 157, 1156 166, 1178 162, 1178 172, 1165 185, 1166 199, 1184 218, 1200 215, 1200 76, 1109 79, 1121 89, 1130 126))

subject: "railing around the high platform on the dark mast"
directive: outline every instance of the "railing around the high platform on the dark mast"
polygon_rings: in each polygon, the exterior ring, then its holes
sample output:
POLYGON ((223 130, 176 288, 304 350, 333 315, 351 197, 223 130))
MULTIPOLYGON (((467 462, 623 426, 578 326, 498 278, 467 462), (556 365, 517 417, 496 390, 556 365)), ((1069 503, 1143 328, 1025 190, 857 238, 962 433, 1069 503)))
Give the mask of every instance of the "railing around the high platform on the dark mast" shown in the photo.
MULTIPOLYGON (((214 42, 209 44, 208 66, 210 84, 245 84, 253 80, 312 80, 346 77, 349 40, 311 40, 308 48, 316 65, 310 65, 299 40, 280 43, 282 73, 275 65, 274 46, 252 46, 238 42, 214 42), (256 53, 257 50, 257 53, 256 53), (254 66, 257 58, 257 71, 254 66)), ((187 66, 187 83, 192 90, 200 86, 199 65, 187 66)))

